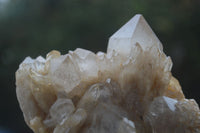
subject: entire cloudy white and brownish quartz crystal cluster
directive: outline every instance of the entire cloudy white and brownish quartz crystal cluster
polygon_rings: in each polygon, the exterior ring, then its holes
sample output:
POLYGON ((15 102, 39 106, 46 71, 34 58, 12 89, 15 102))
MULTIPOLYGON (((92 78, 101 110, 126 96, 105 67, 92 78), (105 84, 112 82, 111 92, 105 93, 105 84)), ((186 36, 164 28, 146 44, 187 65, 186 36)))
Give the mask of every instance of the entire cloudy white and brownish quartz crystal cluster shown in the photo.
POLYGON ((27 57, 16 72, 17 98, 35 133, 200 133, 199 107, 171 67, 136 15, 110 37, 107 54, 27 57))

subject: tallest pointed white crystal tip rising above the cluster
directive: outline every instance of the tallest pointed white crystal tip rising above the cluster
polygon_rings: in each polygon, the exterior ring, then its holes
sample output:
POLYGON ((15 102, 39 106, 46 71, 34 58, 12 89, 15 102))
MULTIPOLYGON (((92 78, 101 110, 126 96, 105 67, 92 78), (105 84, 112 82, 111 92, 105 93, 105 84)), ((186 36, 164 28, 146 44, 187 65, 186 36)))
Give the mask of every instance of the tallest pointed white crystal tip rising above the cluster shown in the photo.
POLYGON ((144 17, 135 15, 109 39, 107 52, 115 50, 123 55, 129 55, 131 47, 139 43, 143 50, 156 45, 162 50, 162 44, 148 25, 144 17))

